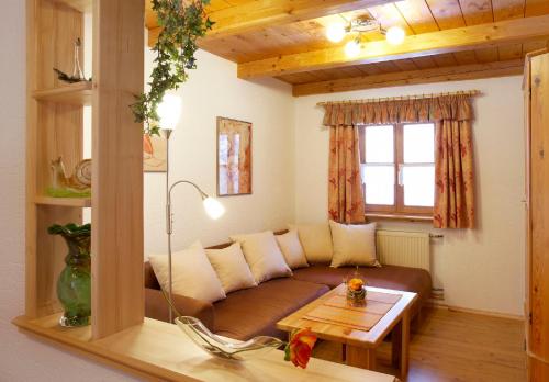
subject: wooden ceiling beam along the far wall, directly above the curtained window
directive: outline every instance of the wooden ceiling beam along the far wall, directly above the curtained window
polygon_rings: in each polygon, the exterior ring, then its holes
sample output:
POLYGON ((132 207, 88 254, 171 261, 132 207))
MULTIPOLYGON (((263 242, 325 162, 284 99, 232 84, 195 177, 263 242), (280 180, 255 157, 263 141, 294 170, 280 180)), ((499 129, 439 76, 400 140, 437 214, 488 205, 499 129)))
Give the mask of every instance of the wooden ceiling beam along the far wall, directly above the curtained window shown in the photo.
POLYGON ((343 78, 330 81, 300 83, 293 86, 293 96, 335 93, 351 90, 388 88, 405 85, 459 81, 491 77, 520 75, 524 60, 514 59, 489 64, 461 65, 435 69, 397 71, 384 75, 343 78))

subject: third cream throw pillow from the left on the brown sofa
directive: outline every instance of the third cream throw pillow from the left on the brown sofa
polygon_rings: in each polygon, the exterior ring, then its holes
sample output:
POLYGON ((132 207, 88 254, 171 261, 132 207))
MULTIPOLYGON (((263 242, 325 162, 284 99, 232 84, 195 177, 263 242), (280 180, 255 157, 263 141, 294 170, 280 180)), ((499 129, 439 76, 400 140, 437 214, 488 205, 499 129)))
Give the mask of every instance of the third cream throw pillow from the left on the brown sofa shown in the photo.
POLYGON ((231 240, 242 245, 246 261, 258 284, 273 278, 292 274, 272 231, 234 235, 231 236, 231 240))

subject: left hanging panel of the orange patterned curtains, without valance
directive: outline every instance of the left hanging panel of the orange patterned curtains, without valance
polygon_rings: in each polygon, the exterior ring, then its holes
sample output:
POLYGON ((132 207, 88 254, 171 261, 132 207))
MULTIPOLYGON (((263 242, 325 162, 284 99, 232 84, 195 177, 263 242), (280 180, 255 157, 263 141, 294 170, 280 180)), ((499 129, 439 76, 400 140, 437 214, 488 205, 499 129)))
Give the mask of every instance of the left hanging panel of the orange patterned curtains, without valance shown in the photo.
POLYGON ((358 130, 352 125, 330 127, 328 212, 339 223, 365 222, 359 156, 358 130))

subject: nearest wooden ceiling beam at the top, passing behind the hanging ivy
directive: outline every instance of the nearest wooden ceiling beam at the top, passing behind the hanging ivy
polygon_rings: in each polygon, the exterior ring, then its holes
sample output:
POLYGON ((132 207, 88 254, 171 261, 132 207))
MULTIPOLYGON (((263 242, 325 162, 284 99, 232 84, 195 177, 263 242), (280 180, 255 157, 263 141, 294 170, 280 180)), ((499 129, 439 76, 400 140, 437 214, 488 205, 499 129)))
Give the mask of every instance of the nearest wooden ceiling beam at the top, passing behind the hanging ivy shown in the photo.
MULTIPOLYGON (((260 0, 244 2, 221 10, 208 12, 215 22, 205 38, 221 38, 229 35, 249 33, 264 27, 289 24, 317 19, 330 14, 355 11, 395 2, 396 0, 260 0)), ((150 1, 146 7, 148 45, 158 40, 161 29, 150 1)))

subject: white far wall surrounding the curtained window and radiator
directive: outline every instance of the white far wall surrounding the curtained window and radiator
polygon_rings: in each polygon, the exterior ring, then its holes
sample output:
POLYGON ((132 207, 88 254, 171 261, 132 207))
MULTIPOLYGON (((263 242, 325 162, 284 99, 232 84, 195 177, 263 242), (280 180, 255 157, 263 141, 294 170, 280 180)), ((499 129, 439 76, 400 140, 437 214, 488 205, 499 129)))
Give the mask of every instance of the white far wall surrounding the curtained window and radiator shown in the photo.
MULTIPOLYGON (((327 218, 328 131, 318 101, 397 97, 479 89, 473 145, 477 175, 475 229, 441 229, 434 244, 435 285, 453 306, 523 315, 524 123, 522 78, 407 86, 311 96, 295 102, 295 215, 327 218)), ((428 224, 385 223, 391 228, 433 231, 428 224)))

